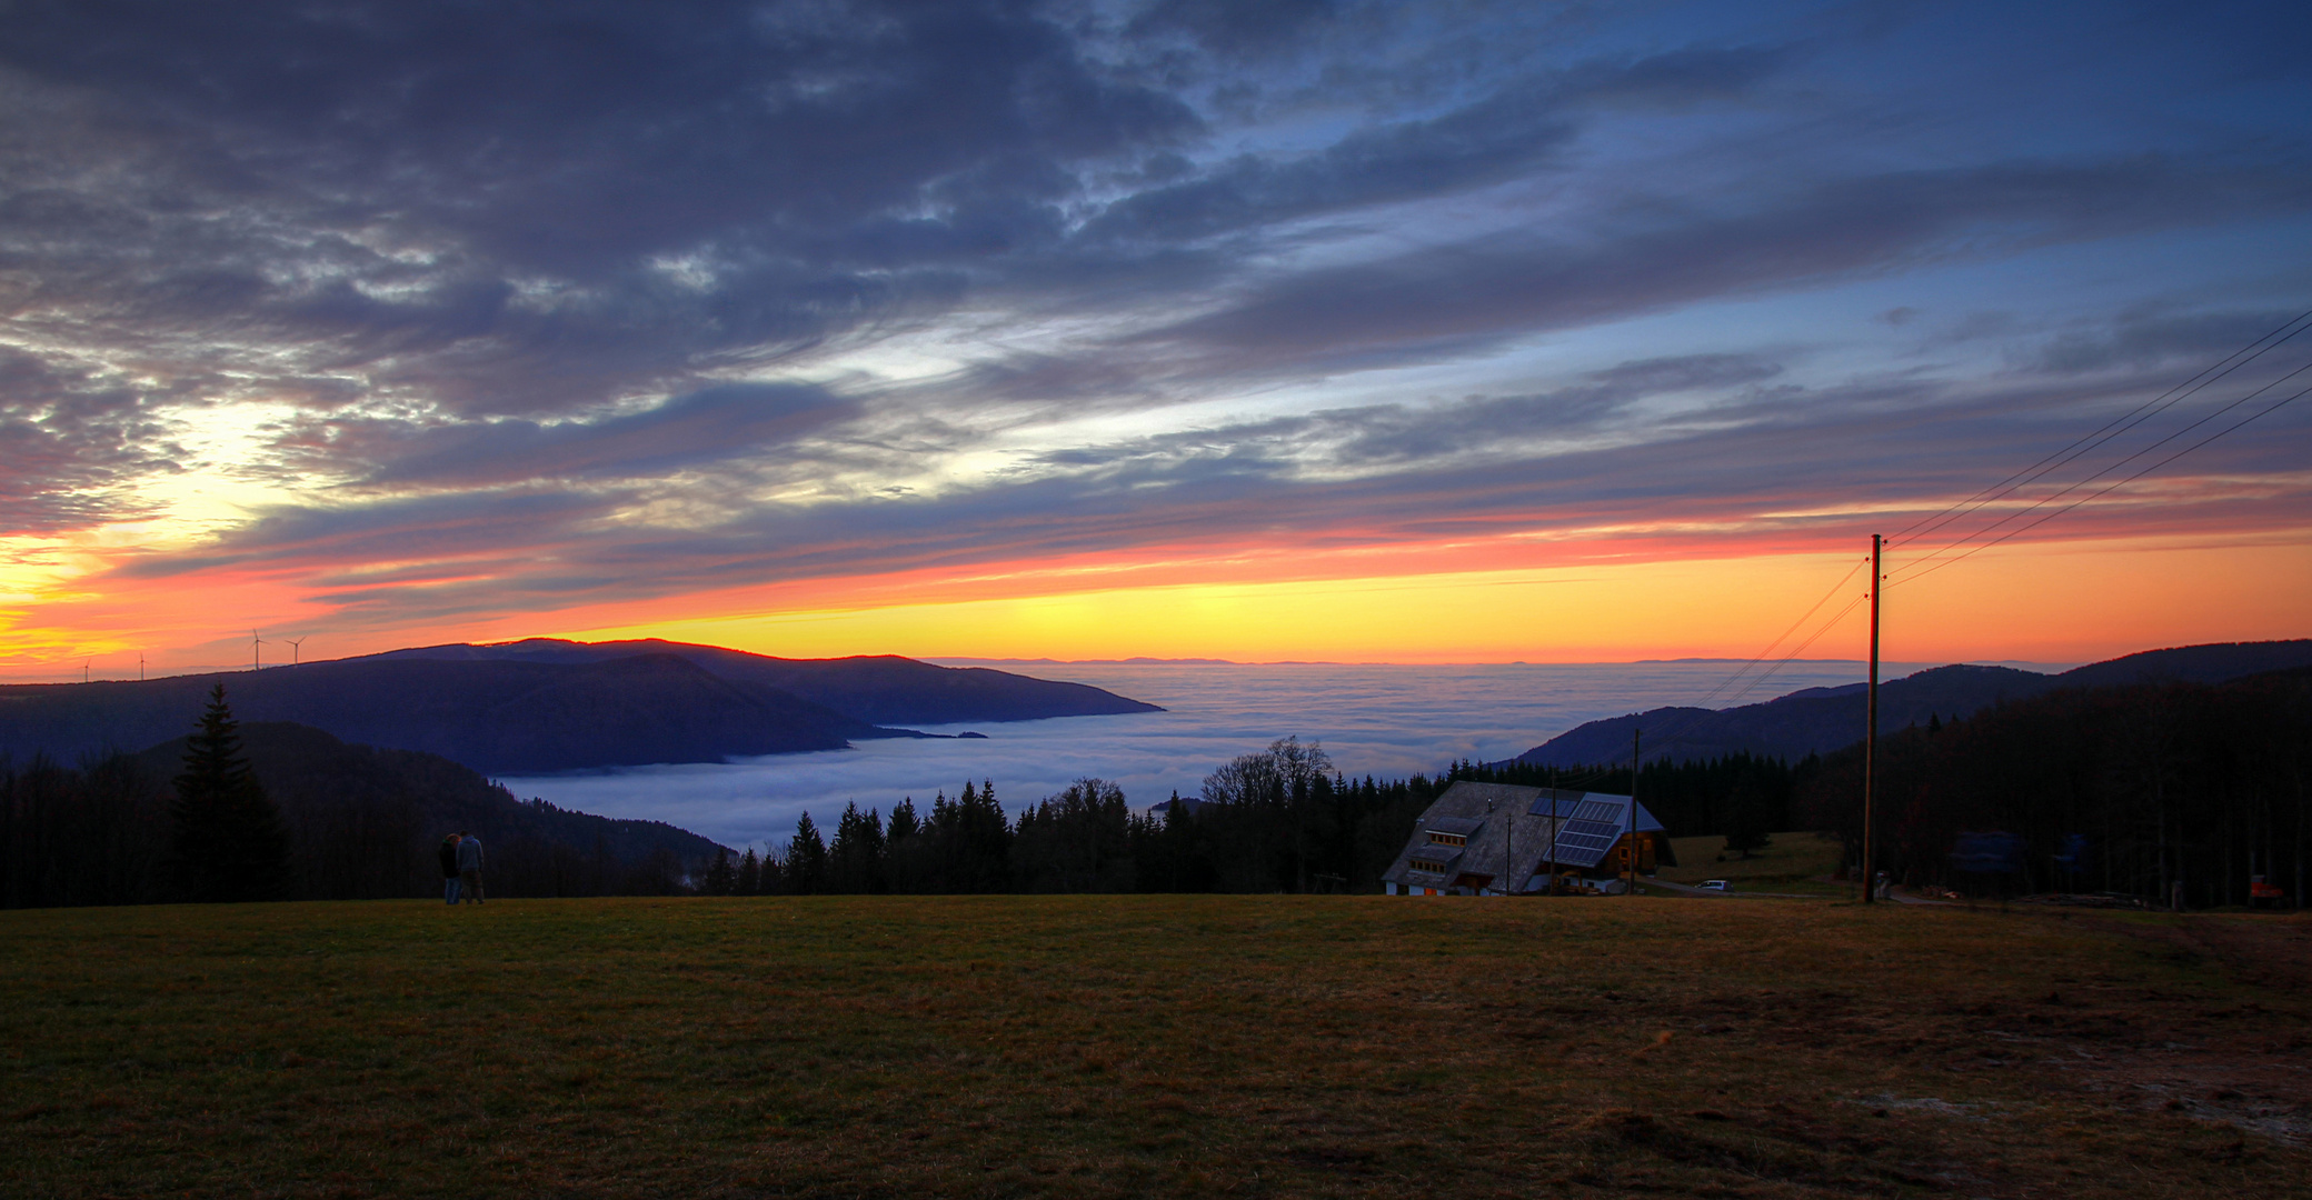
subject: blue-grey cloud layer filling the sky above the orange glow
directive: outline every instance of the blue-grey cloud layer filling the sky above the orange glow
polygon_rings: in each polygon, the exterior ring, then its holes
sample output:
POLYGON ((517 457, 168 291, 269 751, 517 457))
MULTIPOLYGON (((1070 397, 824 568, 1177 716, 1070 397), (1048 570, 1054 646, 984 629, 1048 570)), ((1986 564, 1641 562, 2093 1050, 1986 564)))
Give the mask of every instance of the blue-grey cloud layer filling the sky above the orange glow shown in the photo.
MULTIPOLYGON (((1244 520, 1968 490, 2312 296, 2312 83, 2268 53, 2303 23, 14 2, 0 532, 141 513, 247 405, 231 467, 282 499, 132 571, 307 564, 354 608, 469 613, 1244 520), (2065 314, 2002 284, 2083 247, 2173 282, 2065 314), (1907 277, 1852 328, 1621 333, 1907 277), (1838 354, 1863 333, 1887 361, 1838 354), (1551 340, 1554 368, 1505 358, 1551 340), (892 368, 927 345, 953 370, 892 368), (1096 414, 1142 425, 1066 432, 1096 414), (990 446, 1003 469, 941 474, 990 446), (432 553, 458 583, 333 576, 432 553)), ((2229 462, 2305 437, 2263 432, 2229 462)))

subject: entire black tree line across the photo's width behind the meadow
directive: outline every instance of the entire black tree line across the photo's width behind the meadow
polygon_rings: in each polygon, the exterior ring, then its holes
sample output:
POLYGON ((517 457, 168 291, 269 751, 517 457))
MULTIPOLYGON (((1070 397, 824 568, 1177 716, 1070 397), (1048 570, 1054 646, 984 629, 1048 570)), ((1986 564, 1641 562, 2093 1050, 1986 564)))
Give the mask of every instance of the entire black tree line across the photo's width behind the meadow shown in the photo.
MULTIPOLYGON (((2229 684, 2058 691, 1880 740, 1877 862, 1907 883, 2113 890, 2240 904, 2254 874, 2303 897, 2312 673, 2229 684), (2011 874, 1951 849, 2000 830, 2011 874)), ((1861 751, 1801 763, 1729 754, 1540 768, 1452 763, 1353 779, 1318 742, 1283 738, 1223 763, 1198 795, 1135 812, 1077 779, 1008 814, 990 779, 798 821, 775 853, 731 855, 684 830, 518 802, 455 763, 344 747, 301 726, 271 738, 259 779, 222 689, 197 733, 79 768, 0 763, 0 906, 432 895, 430 846, 472 828, 492 895, 814 892, 1376 892, 1420 814, 1454 782, 1632 793, 1674 837, 1729 849, 1833 830, 1859 851, 1861 751), (166 751, 171 758, 162 758, 166 751), (166 768, 173 768, 169 772, 166 768), (712 853, 705 853, 710 851, 712 853)))

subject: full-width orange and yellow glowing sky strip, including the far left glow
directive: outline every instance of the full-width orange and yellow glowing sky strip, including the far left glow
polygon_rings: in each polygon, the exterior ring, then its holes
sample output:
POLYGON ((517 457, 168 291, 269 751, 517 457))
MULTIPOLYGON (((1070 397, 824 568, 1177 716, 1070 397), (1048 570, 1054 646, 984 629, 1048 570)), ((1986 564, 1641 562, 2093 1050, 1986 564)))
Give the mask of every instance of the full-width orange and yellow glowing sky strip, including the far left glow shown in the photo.
MULTIPOLYGON (((2312 529, 2009 543, 1887 594, 1887 657, 2088 661, 2157 645, 2305 636, 2312 529)), ((1824 536, 1662 532, 1225 553, 832 576, 680 597, 509 594, 495 610, 393 622, 289 569, 111 578, 5 613, 14 682, 134 677, 400 645, 664 636, 788 657, 1214 657, 1239 661, 1628 661, 1748 657, 1861 557, 1824 536), (1734 553, 1734 550, 1741 553, 1734 553), (520 601, 520 606, 516 606, 520 601), (236 620, 238 617, 238 620, 236 620)), ((1845 536, 1836 539, 1845 541, 1845 536)), ((1889 560, 1900 566, 1903 557, 1889 560)), ((453 571, 439 578, 458 578, 453 571)), ((402 578, 402 587, 425 587, 402 578)), ((1845 592, 1861 592, 1852 578, 1845 592)), ((1840 601, 1824 608, 1836 610, 1840 601)), ((1820 620, 1820 617, 1817 617, 1820 620)), ((1803 634, 1801 634, 1803 636, 1803 634)), ((1808 657, 1859 657, 1850 617, 1808 657)))

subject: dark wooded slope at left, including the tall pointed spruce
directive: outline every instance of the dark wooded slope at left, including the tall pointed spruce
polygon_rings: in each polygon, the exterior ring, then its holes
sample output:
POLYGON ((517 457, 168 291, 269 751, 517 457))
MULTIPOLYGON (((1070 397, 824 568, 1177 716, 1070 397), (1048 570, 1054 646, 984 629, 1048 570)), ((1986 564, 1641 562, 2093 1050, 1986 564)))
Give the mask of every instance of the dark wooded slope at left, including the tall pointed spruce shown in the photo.
POLYGON ((0 906, 439 895, 432 846, 460 828, 502 897, 680 895, 712 846, 516 800, 432 754, 243 728, 220 687, 180 747, 0 761, 0 906))

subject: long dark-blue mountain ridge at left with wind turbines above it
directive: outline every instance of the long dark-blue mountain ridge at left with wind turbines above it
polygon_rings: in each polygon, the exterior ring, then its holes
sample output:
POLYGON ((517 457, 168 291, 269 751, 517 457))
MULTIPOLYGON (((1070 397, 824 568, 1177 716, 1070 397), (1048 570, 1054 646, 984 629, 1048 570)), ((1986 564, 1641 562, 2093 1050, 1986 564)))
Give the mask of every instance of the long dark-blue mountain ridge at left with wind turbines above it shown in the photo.
POLYGON ((846 749, 855 738, 927 738, 881 721, 1156 710, 1096 687, 897 657, 770 659, 664 640, 532 638, 139 682, 9 684, 0 687, 0 754, 72 761, 148 747, 183 735, 220 682, 243 721, 294 721, 490 775, 717 763, 846 749))

